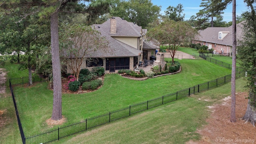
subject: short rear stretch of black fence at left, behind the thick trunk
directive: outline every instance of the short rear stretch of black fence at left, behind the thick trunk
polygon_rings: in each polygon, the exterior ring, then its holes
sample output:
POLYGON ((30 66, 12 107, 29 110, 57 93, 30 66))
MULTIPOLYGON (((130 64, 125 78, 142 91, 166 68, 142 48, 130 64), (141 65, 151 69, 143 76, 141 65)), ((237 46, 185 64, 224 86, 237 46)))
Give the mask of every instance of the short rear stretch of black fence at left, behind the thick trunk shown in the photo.
MULTIPOLYGON (((14 84, 26 84, 28 83, 28 77, 20 77, 20 78, 9 78, 9 81, 14 84)), ((44 79, 41 76, 32 76, 32 82, 44 82, 48 81, 48 79, 44 79)))

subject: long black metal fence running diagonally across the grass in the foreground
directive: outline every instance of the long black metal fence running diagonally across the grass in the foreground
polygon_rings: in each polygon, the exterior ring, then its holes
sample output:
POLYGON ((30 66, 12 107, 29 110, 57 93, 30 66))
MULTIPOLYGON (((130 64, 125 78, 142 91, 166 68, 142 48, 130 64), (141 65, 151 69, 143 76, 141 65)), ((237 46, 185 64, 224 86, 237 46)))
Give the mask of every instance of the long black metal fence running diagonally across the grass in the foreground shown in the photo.
MULTIPOLYGON (((122 108, 120 110, 115 110, 112 112, 108 112, 106 114, 102 114, 92 118, 87 118, 86 120, 82 120, 81 122, 70 124, 68 126, 62 126, 62 127, 54 128, 52 130, 48 130, 46 132, 35 134, 33 136, 28 136, 27 138, 25 138, 23 134, 23 130, 21 128, 22 141, 24 140, 23 144, 40 144, 40 143, 45 144, 45 143, 53 142, 55 140, 60 140, 61 138, 65 138, 72 134, 83 132, 97 126, 101 126, 103 124, 107 124, 112 121, 125 118, 127 116, 131 116, 132 114, 136 114, 138 112, 148 110, 149 108, 153 108, 153 107, 165 104, 167 102, 172 102, 174 100, 178 100, 180 98, 190 96, 191 94, 196 94, 198 92, 202 92, 204 90, 208 90, 210 88, 220 86, 230 81, 231 81, 231 74, 226 75, 222 78, 217 78, 216 80, 212 80, 203 84, 195 85, 193 87, 190 87, 184 90, 177 91, 172 94, 160 96, 158 98, 147 100, 145 102, 140 102, 138 104, 133 104, 126 108, 122 108)), ((10 83, 10 86, 11 86, 11 83, 10 83)), ((19 120, 18 122, 20 123, 19 120)), ((20 127, 21 127, 21 124, 20 124, 20 127)))

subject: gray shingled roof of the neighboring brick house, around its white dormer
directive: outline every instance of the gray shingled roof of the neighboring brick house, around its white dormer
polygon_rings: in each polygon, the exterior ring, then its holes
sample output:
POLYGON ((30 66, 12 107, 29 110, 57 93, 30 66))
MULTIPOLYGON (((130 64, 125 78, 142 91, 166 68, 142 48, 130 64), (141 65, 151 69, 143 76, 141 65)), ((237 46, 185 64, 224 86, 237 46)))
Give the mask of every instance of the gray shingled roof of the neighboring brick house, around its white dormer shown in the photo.
MULTIPOLYGON (((214 44, 222 44, 232 46, 232 26, 230 27, 209 27, 205 30, 198 31, 200 36, 196 36, 195 40, 210 42, 214 44), (218 39, 218 32, 223 32, 228 34, 222 38, 218 39)), ((236 25, 236 38, 241 39, 242 36, 242 22, 236 25)))

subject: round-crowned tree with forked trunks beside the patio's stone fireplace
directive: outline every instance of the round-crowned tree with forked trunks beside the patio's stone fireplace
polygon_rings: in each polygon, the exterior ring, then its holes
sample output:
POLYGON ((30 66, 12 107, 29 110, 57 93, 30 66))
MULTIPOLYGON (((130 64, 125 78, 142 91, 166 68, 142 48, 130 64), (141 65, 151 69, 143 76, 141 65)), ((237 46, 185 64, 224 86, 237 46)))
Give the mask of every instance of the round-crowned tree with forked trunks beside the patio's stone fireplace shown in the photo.
POLYGON ((196 34, 197 30, 186 22, 167 20, 149 30, 147 37, 158 40, 160 44, 166 44, 174 62, 174 55, 180 45, 191 43, 196 34))

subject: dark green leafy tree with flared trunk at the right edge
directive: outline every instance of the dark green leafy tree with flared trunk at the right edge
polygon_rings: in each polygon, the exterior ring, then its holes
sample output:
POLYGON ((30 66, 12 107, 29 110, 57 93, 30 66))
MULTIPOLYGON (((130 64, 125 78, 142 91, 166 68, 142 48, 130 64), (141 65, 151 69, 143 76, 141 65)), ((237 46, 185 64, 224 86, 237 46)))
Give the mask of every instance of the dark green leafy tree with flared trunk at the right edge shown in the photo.
POLYGON ((256 0, 244 0, 250 11, 244 12, 243 39, 237 48, 240 66, 248 72, 247 86, 249 88, 248 105, 242 120, 256 122, 256 0))

